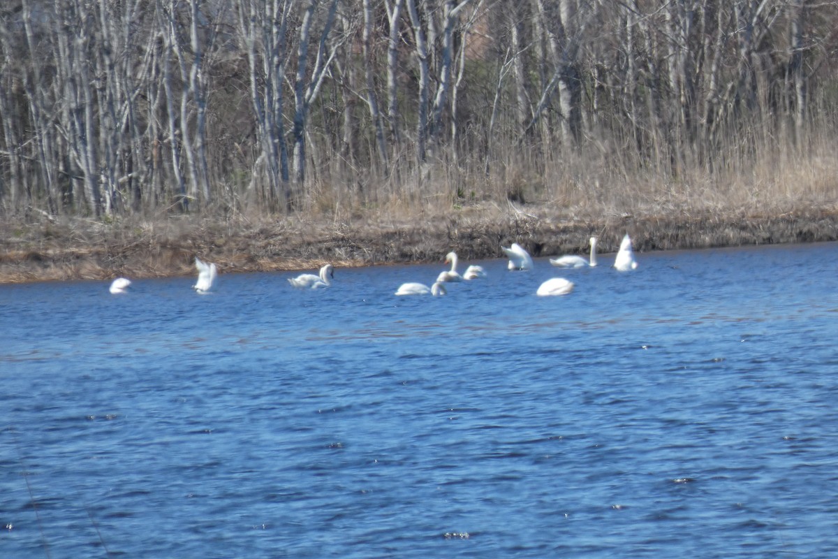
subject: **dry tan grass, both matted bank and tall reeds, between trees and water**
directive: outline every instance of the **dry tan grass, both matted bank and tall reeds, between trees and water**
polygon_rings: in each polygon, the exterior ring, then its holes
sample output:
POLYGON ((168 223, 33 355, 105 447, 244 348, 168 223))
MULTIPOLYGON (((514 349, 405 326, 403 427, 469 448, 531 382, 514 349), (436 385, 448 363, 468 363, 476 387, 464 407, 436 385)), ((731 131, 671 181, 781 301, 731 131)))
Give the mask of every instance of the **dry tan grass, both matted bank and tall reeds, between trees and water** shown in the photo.
POLYGON ((561 157, 509 150, 488 175, 479 161, 401 168, 387 179, 344 171, 315 180, 293 215, 269 215, 236 193, 217 215, 105 223, 33 213, 0 225, 0 282, 190 275, 195 256, 221 272, 441 261, 450 250, 499 257, 513 241, 551 256, 585 251, 591 235, 608 252, 626 231, 639 251, 835 241, 838 155, 829 140, 806 150, 767 144, 747 158, 731 148, 711 170, 685 163, 677 175, 594 143, 561 157))

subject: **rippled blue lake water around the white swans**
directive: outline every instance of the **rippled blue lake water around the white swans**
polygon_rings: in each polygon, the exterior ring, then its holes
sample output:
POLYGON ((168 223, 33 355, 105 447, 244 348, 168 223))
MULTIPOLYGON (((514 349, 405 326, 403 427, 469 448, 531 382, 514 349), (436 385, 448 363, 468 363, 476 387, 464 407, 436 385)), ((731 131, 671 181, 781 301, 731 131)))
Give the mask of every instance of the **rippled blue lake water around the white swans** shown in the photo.
POLYGON ((0 286, 0 556, 838 556, 836 252, 0 286))

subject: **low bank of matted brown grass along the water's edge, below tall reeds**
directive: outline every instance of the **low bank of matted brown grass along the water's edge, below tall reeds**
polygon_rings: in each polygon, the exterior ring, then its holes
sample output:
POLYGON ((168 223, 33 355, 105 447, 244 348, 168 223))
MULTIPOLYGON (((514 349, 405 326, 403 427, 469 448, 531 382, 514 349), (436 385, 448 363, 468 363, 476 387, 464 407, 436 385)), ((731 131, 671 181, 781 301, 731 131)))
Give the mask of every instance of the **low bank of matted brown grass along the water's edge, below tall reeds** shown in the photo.
POLYGON ((168 217, 8 220, 0 226, 0 283, 173 277, 194 274, 194 257, 220 273, 291 271, 502 256, 517 241, 535 256, 587 253, 597 235, 603 253, 628 232, 635 251, 838 241, 838 208, 678 215, 560 215, 544 206, 465 209, 414 219, 378 216, 338 222, 210 220, 168 217))

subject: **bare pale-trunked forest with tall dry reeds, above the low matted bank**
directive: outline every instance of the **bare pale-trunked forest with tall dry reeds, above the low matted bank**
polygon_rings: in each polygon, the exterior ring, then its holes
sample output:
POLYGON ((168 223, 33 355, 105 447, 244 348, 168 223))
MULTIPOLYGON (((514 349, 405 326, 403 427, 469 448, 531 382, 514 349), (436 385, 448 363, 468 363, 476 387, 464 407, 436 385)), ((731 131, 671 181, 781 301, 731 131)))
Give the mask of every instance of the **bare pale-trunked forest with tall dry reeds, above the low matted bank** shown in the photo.
POLYGON ((835 199, 838 2, 6 0, 0 214, 835 199))

